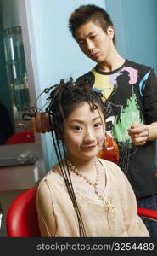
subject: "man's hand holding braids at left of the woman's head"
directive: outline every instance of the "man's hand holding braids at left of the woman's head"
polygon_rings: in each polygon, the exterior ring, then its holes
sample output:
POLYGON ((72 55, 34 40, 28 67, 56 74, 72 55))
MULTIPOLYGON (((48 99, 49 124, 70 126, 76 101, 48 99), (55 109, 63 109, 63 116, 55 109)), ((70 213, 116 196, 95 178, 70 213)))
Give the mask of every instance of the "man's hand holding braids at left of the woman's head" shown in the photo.
POLYGON ((36 117, 31 118, 31 129, 36 132, 53 131, 52 125, 49 122, 48 113, 37 113, 36 117))

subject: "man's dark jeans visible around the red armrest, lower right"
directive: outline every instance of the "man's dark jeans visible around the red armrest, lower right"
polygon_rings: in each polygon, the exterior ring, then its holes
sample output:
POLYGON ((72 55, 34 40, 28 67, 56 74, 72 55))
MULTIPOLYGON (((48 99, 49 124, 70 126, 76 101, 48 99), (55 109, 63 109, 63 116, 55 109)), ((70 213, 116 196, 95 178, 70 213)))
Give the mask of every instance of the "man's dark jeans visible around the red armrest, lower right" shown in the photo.
MULTIPOLYGON (((143 196, 137 199, 137 207, 146 208, 157 211, 157 194, 150 196, 143 196)), ((150 237, 157 237, 157 221, 142 218, 143 223, 149 231, 150 237)))

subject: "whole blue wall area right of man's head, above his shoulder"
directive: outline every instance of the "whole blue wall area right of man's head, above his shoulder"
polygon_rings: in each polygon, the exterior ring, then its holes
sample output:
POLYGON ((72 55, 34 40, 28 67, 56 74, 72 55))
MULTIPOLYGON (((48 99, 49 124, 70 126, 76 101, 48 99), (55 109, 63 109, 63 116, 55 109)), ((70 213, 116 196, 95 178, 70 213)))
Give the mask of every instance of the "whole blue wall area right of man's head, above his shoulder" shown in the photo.
POLYGON ((154 67, 157 74, 157 1, 106 0, 124 57, 154 67))

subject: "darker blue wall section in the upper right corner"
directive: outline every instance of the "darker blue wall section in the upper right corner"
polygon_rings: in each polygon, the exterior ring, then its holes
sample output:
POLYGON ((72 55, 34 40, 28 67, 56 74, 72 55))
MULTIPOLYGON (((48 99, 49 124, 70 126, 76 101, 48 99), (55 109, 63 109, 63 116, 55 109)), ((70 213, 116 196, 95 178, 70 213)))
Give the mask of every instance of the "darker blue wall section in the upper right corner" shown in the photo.
POLYGON ((157 1, 125 0, 123 3, 128 58, 154 67, 157 74, 157 1))

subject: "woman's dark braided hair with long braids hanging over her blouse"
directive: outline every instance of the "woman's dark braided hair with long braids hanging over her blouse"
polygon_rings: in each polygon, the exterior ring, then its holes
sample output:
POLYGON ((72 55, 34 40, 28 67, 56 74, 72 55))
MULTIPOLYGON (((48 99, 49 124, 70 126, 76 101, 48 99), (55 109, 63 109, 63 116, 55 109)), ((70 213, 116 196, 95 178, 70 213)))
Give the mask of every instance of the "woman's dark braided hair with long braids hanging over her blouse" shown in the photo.
POLYGON ((70 78, 69 82, 64 83, 64 80, 60 81, 60 84, 54 85, 53 90, 50 93, 49 104, 46 108, 46 112, 49 114, 49 120, 53 125, 52 137, 55 153, 59 161, 60 171, 64 178, 64 183, 70 195, 70 199, 76 210, 76 216, 78 218, 80 236, 86 236, 86 230, 81 218, 81 213, 76 202, 76 195, 71 183, 70 170, 67 164, 66 149, 64 144, 64 122, 70 112, 76 107, 76 105, 82 102, 88 102, 93 109, 98 107, 104 113, 104 102, 102 101, 102 94, 94 91, 91 87, 90 80, 79 79, 73 82, 70 78), (64 149, 64 160, 61 154, 61 144, 64 149))

